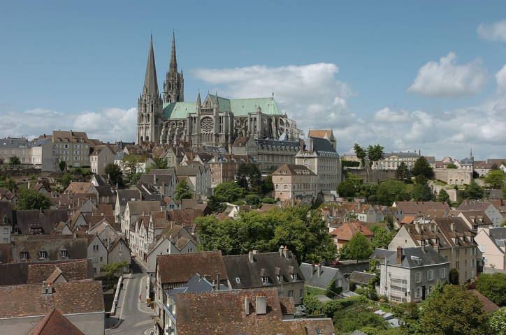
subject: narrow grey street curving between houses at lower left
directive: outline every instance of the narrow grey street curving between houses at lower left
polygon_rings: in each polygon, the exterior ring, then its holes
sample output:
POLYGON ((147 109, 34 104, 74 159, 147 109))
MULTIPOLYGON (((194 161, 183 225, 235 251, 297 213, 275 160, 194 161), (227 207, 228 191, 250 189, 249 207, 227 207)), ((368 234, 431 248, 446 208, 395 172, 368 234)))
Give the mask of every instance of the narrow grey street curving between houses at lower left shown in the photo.
POLYGON ((131 270, 124 278, 115 317, 106 319, 106 327, 117 325, 117 322, 121 322, 120 326, 106 329, 106 334, 149 334, 147 330, 152 329, 152 311, 145 304, 146 269, 132 258, 131 270), (139 295, 142 295, 141 300, 139 295))

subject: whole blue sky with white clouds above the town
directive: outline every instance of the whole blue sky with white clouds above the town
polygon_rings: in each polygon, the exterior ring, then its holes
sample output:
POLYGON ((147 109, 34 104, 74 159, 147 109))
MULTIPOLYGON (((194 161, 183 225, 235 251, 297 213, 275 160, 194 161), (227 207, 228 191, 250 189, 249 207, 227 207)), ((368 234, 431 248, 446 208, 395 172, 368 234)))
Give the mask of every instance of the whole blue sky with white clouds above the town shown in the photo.
POLYGON ((505 1, 6 1, 0 31, 0 137, 133 141, 175 31, 185 101, 274 94, 340 154, 506 158, 505 1))

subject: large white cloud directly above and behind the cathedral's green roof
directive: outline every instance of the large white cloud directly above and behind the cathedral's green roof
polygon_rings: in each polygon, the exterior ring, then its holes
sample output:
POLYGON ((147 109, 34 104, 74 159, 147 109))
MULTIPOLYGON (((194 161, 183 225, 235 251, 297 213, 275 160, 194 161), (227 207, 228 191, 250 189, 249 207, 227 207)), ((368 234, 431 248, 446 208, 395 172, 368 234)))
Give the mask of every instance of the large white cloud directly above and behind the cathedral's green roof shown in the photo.
POLYGON ((342 128, 354 119, 347 104, 352 89, 335 78, 339 73, 335 64, 200 68, 193 73, 205 82, 222 85, 222 95, 232 98, 271 96, 274 92, 288 117, 307 128, 325 128, 329 124, 342 128))

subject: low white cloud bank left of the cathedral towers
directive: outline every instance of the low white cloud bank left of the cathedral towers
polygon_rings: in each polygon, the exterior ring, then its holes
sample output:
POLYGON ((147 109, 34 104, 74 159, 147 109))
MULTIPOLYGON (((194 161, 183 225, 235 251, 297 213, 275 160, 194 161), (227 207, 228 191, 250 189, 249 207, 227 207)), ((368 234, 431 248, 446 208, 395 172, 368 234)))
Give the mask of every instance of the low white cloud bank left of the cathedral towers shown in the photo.
POLYGON ((36 108, 18 112, 1 112, 0 136, 29 139, 62 129, 86 131, 88 137, 103 141, 133 141, 136 135, 136 108, 104 108, 99 112, 85 111, 79 114, 64 114, 53 110, 36 108))

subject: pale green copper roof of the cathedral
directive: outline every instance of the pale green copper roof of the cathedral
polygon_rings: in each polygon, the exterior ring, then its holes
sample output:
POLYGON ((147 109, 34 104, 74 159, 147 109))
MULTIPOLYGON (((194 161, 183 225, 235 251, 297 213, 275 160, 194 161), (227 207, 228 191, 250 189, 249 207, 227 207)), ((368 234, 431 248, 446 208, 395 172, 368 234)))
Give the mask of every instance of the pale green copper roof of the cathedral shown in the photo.
MULTIPOLYGON (((211 101, 215 102, 215 96, 208 94, 211 101)), ((250 98, 250 99, 227 99, 218 96, 218 106, 220 112, 233 112, 236 117, 245 117, 247 114, 256 113, 256 108, 260 106, 262 113, 266 115, 284 115, 274 98, 250 98)), ((196 103, 164 103, 165 119, 183 119, 188 113, 196 112, 196 103)))

